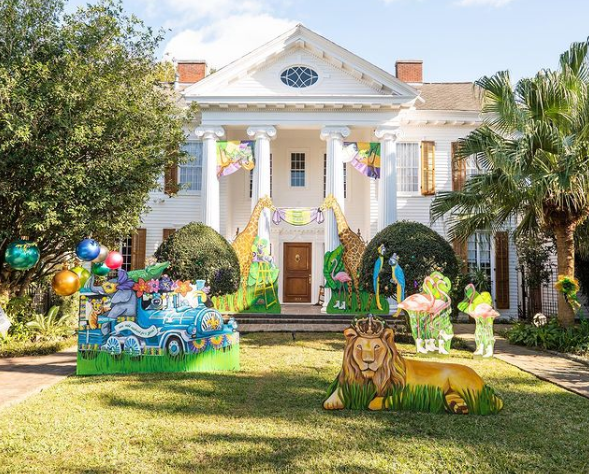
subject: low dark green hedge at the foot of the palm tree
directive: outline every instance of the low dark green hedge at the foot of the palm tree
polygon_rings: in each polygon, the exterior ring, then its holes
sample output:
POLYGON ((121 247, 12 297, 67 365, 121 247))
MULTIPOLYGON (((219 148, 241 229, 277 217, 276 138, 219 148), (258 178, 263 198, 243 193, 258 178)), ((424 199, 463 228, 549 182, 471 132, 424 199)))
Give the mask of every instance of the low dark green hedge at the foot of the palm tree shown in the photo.
POLYGON ((521 346, 585 354, 589 352, 589 321, 566 328, 557 319, 539 327, 520 322, 507 332, 507 339, 521 346))

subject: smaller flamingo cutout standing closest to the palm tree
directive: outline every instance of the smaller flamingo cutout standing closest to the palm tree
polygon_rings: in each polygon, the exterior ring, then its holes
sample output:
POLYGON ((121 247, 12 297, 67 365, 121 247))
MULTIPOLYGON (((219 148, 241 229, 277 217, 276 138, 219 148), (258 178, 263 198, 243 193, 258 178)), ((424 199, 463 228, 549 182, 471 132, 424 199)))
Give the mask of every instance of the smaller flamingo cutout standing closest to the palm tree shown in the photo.
POLYGON ((476 343, 475 356, 493 357, 495 334, 493 322, 499 313, 493 309, 493 298, 487 291, 478 293, 470 283, 464 289, 464 301, 458 303, 458 309, 475 320, 474 340, 476 343))

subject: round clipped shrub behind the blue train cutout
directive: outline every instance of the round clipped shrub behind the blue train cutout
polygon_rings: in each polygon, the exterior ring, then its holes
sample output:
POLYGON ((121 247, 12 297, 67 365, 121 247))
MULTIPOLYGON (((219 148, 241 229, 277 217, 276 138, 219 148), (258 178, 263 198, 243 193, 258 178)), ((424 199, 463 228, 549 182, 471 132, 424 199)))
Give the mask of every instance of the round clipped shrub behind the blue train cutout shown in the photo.
POLYGON ((178 280, 206 280, 211 296, 237 291, 239 261, 233 247, 211 227, 191 222, 170 235, 155 252, 170 262, 168 274, 178 280))

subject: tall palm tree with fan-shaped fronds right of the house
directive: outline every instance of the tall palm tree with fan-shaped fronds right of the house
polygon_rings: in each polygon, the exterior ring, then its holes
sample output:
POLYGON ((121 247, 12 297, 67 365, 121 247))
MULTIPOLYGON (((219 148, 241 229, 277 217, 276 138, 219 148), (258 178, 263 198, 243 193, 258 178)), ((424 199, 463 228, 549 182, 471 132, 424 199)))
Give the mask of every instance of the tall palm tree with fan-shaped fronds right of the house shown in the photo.
MULTIPOLYGON (((558 273, 574 276, 575 230, 589 215, 588 50, 589 40, 572 44, 558 70, 515 88, 506 71, 475 83, 484 124, 461 140, 457 158, 474 155, 486 172, 439 193, 431 208, 434 220, 447 216, 451 239, 517 224, 516 235, 554 236, 558 273)), ((559 321, 574 318, 559 295, 559 321)))

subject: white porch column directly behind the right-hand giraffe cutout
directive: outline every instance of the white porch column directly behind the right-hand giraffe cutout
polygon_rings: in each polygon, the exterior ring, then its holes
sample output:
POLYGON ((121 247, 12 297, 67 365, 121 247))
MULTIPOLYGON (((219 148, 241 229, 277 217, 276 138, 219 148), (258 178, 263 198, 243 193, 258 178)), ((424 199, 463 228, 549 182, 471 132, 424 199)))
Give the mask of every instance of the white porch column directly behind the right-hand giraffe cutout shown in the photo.
MULTIPOLYGON (((329 126, 321 129, 321 139, 326 141, 327 166, 325 194, 333 194, 342 212, 344 212, 344 139, 350 135, 350 129, 344 126, 329 126)), ((337 223, 333 212, 328 212, 325 218, 325 251, 331 252, 340 244, 337 235, 337 223)), ((331 290, 325 288, 325 303, 331 299, 331 290)))

